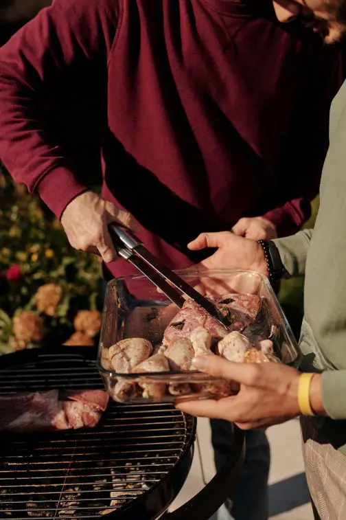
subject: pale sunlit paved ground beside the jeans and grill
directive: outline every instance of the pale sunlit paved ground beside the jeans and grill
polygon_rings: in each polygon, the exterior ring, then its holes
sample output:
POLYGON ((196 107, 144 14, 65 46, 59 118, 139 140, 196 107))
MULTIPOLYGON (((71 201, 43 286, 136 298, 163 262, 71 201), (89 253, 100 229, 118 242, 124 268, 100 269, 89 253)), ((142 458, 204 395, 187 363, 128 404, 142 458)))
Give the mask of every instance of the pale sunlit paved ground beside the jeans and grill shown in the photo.
MULTIPOLYGON (((209 480, 214 476, 215 468, 210 444, 209 421, 206 419, 198 419, 198 438, 205 476, 209 480)), ((269 428, 268 438, 272 452, 269 488, 270 520, 312 520, 301 457, 299 422, 292 420, 285 425, 269 428)), ((202 487, 200 460, 198 451, 195 450, 192 470, 170 510, 184 504, 202 487)))

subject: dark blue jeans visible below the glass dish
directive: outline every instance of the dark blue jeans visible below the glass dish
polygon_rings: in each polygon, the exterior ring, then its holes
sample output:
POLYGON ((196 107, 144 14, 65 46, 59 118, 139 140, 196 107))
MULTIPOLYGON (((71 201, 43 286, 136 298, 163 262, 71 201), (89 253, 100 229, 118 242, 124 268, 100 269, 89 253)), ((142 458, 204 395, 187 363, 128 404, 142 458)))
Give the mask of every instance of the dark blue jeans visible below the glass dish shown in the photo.
MULTIPOLYGON (((226 420, 211 419, 211 442, 218 471, 232 444, 231 425, 226 420)), ((270 447, 264 430, 246 431, 244 468, 225 506, 234 520, 268 519, 268 476, 270 447)))

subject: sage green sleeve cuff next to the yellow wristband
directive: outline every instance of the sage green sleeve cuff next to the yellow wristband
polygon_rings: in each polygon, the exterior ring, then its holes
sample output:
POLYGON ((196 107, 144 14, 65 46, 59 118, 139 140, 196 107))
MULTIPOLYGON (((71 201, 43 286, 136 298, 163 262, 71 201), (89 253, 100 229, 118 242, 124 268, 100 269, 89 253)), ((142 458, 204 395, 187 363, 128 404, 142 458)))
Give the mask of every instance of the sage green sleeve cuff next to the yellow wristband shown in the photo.
POLYGON ((346 370, 327 370, 322 374, 322 402, 328 416, 346 419, 346 370))

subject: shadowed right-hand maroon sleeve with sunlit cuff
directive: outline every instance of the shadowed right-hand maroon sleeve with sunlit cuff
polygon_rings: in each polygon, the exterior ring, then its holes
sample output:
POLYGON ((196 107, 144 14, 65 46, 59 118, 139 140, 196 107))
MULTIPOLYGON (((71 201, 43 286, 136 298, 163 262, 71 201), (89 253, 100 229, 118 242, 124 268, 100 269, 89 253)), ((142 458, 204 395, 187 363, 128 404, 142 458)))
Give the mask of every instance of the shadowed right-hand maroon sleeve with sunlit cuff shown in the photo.
POLYGON ((282 205, 263 215, 275 224, 280 237, 297 233, 311 216, 310 203, 319 192, 329 142, 330 106, 343 82, 336 49, 317 48, 311 53, 312 64, 277 166, 275 198, 282 205))

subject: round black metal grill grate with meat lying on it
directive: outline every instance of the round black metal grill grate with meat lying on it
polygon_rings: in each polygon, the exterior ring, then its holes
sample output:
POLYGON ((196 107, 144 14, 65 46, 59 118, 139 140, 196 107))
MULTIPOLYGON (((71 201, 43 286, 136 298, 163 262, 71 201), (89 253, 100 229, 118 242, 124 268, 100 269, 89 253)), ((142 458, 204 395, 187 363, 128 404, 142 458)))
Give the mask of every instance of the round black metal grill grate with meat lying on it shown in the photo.
MULTIPOLYGON (((103 388, 93 361, 76 354, 38 354, 0 372, 0 393, 103 388)), ((172 405, 110 401, 95 429, 30 438, 3 436, 0 518, 101 518, 149 493, 174 467, 193 421, 172 405)))

